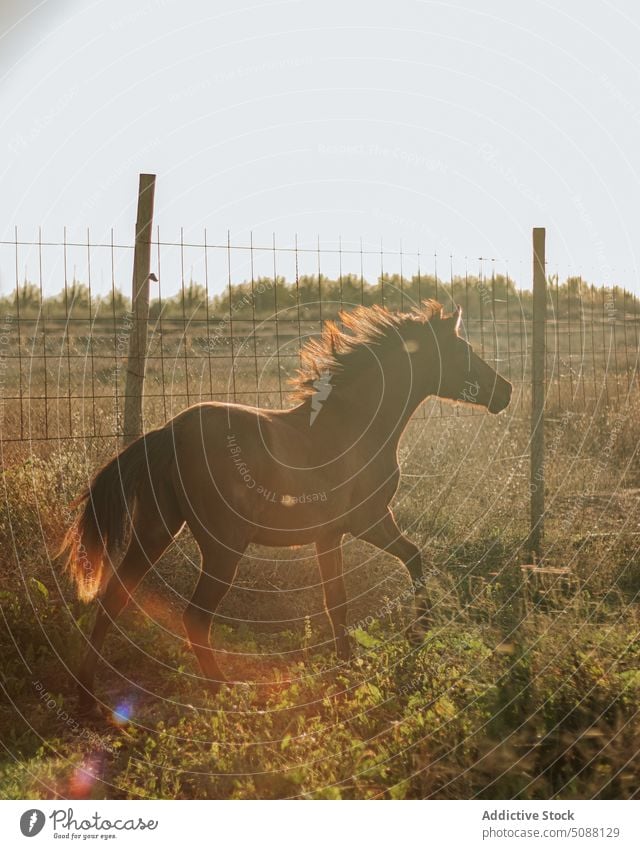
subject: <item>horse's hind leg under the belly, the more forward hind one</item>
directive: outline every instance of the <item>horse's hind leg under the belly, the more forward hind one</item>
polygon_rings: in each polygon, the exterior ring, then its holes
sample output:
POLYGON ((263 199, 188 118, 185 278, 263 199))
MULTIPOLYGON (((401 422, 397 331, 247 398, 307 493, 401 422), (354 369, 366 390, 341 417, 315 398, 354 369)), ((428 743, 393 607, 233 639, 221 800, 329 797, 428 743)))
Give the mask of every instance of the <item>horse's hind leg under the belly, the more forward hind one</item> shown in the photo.
POLYGON ((210 691, 215 694, 225 677, 211 647, 211 622, 218 605, 233 584, 244 547, 242 551, 233 551, 213 539, 198 540, 198 544, 202 554, 202 570, 183 621, 202 674, 207 679, 210 691))

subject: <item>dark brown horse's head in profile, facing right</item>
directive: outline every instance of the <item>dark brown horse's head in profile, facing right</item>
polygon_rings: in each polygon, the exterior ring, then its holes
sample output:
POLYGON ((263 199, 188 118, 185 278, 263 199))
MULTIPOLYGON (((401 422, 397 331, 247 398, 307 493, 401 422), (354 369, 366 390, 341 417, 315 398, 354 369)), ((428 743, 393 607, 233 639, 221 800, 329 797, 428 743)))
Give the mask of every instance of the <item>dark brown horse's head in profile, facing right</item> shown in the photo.
POLYGON ((449 316, 442 309, 436 311, 423 325, 433 364, 427 394, 499 413, 511 400, 511 383, 458 335, 461 319, 462 308, 458 306, 449 316))

